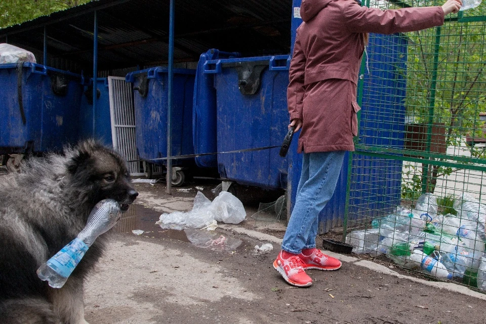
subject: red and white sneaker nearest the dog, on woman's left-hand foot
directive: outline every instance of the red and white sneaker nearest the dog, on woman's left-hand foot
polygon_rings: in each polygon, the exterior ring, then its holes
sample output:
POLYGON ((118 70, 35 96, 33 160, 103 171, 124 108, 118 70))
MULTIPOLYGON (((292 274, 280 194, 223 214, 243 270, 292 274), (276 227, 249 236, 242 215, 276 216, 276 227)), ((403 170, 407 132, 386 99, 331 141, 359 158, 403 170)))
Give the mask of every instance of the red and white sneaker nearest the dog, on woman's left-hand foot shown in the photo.
POLYGON ((282 252, 278 253, 273 267, 280 272, 285 281, 296 287, 309 287, 312 285, 312 279, 305 273, 304 264, 296 254, 288 259, 282 258, 282 252))

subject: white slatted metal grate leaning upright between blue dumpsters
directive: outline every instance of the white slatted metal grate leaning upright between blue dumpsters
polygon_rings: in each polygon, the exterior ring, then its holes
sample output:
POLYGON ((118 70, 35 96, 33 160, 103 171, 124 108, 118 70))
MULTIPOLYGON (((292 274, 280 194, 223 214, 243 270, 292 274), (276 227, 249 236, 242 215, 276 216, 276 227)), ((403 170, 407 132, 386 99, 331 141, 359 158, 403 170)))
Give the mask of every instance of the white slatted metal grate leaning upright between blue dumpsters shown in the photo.
POLYGON ((142 176, 135 141, 135 108, 132 84, 124 77, 108 76, 110 96, 111 134, 113 148, 128 161, 130 174, 142 176))

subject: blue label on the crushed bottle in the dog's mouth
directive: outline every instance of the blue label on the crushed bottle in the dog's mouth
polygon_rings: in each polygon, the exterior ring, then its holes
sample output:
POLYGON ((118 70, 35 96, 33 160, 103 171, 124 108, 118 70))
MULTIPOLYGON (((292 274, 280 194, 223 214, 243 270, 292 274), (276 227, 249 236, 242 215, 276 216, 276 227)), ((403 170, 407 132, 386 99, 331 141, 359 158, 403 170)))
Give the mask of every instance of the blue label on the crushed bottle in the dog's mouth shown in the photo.
POLYGON ((79 261, 83 258, 88 246, 79 238, 74 238, 55 256, 47 261, 47 265, 64 278, 69 277, 79 261))

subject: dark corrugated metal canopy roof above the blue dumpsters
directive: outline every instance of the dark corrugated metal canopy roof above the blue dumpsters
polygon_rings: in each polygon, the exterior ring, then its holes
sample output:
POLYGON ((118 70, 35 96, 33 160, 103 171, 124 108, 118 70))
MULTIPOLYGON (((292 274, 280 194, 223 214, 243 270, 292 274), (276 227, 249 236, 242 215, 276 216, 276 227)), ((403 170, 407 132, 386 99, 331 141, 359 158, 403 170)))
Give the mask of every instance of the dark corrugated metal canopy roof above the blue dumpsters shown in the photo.
MULTIPOLYGON (((94 12, 98 69, 167 64, 170 2, 98 0, 0 29, 0 42, 29 50, 42 63, 79 72, 93 65, 94 12)), ((243 56, 289 54, 292 0, 177 0, 175 62, 198 61, 216 48, 243 56)))

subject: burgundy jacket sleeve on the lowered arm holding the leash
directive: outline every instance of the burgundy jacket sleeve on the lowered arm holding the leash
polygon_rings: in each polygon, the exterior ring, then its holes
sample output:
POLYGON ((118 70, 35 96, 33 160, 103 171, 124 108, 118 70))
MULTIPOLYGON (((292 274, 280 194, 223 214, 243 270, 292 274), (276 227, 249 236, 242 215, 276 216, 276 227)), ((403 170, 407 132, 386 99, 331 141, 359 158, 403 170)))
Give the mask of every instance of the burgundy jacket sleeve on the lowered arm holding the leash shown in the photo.
POLYGON ((297 29, 294 54, 290 61, 289 86, 287 88, 287 107, 290 113, 290 120, 295 118, 302 119, 305 61, 305 55, 299 41, 299 30, 297 29))

